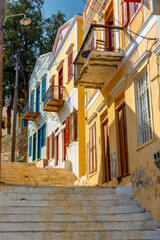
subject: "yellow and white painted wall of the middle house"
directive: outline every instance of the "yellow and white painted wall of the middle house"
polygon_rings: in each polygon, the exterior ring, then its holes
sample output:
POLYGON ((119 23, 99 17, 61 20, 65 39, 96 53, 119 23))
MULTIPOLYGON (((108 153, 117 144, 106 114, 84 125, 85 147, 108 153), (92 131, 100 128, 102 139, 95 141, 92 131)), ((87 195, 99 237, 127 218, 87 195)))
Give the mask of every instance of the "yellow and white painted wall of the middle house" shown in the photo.
MULTIPOLYGON (((65 88, 64 97, 65 102, 61 110, 54 114, 49 113, 48 120, 48 136, 51 133, 55 132, 56 129, 58 131, 55 133, 55 136, 59 135, 59 162, 58 166, 62 166, 63 164, 63 131, 65 128, 65 119, 68 115, 73 112, 73 108, 77 111, 78 119, 77 119, 77 129, 78 129, 78 137, 76 141, 73 141, 67 147, 67 159, 71 162, 71 170, 78 176, 82 176, 85 174, 85 113, 84 113, 84 90, 74 89, 74 78, 72 76, 71 80, 68 82, 68 55, 71 51, 73 51, 73 61, 77 55, 78 50, 82 45, 82 36, 83 32, 81 30, 83 20, 82 16, 75 16, 72 21, 69 21, 70 26, 65 32, 63 36, 62 42, 59 44, 59 48, 51 56, 51 59, 54 58, 52 64, 50 63, 50 84, 54 79, 54 85, 58 86, 58 72, 60 68, 63 66, 63 86, 65 88)), ((57 36, 58 37, 58 36, 57 36)), ((53 47, 54 49, 54 47, 53 47)), ((74 67, 73 67, 74 71, 74 67)), ((52 160, 52 159, 50 159, 52 160)), ((54 166, 53 159, 53 166, 54 166)))

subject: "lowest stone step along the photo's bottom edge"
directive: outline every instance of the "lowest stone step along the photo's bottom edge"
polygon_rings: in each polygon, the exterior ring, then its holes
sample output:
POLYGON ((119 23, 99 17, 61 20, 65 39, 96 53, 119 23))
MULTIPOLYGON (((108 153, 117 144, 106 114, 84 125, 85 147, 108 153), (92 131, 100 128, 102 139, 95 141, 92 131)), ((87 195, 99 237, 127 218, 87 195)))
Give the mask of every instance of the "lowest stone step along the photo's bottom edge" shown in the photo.
POLYGON ((0 232, 1 240, 157 240, 160 239, 160 231, 34 231, 34 232, 0 232), (23 236, 23 238, 22 238, 23 236))

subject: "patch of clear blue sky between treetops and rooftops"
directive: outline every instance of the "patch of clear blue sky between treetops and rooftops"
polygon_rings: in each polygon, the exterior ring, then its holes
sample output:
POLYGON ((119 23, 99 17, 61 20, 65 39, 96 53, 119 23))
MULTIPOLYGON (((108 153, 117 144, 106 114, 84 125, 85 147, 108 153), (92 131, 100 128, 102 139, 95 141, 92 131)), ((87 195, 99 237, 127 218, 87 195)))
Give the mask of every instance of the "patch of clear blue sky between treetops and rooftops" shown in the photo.
POLYGON ((66 15, 66 20, 71 19, 74 15, 82 13, 85 7, 83 0, 44 0, 45 17, 50 17, 51 13, 55 14, 58 10, 66 15))

